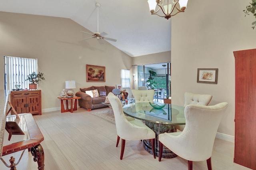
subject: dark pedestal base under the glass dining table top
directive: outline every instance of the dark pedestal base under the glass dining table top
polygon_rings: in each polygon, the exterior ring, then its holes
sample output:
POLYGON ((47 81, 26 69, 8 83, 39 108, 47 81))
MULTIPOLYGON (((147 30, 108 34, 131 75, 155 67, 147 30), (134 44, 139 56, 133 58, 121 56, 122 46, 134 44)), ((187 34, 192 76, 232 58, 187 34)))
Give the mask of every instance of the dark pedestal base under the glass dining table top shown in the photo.
MULTIPOLYGON (((164 132, 176 132, 177 128, 175 125, 166 125, 166 124, 159 124, 159 123, 152 123, 145 121, 145 124, 151 128, 156 133, 156 142, 155 142, 155 153, 156 156, 159 157, 159 141, 158 141, 158 134, 164 132)), ((150 140, 143 140, 144 149, 152 154, 151 142, 150 140)), ((175 158, 178 155, 174 154, 171 150, 163 146, 163 154, 162 158, 175 158)))

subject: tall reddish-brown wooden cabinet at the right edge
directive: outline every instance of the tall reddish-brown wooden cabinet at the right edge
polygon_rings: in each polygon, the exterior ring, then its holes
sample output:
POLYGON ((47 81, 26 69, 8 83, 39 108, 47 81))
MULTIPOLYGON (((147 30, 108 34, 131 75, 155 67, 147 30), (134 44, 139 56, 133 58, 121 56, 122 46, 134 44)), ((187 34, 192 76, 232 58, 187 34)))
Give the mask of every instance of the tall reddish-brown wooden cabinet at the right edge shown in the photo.
POLYGON ((234 162, 256 169, 256 49, 234 51, 234 162))

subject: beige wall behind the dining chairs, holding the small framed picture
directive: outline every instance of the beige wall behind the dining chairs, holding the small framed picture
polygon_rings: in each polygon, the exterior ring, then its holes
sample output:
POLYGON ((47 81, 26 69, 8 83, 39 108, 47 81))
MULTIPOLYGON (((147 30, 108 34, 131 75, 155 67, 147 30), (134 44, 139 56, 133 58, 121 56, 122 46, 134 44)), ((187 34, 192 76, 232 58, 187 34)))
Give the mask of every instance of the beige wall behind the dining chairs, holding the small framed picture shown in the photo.
POLYGON ((172 18, 172 103, 182 105, 185 91, 212 94, 210 105, 228 102, 218 132, 232 136, 233 51, 256 48, 256 30, 251 28, 255 18, 242 12, 248 4, 249 0, 188 1, 186 11, 172 18), (218 84, 196 83, 197 68, 218 68, 218 84))

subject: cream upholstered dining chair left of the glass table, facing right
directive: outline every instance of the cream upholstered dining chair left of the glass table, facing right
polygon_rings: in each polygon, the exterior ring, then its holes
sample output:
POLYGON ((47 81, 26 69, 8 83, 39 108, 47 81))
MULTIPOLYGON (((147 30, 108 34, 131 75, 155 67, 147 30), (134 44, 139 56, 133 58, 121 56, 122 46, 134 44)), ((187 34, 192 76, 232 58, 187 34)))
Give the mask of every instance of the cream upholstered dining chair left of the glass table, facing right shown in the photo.
POLYGON ((152 153, 154 158, 155 155, 155 138, 156 134, 153 130, 147 127, 141 120, 134 119, 128 121, 124 115, 122 103, 118 97, 113 93, 108 93, 108 100, 114 111, 114 117, 116 122, 117 141, 116 147, 118 146, 120 138, 122 139, 120 160, 124 155, 125 140, 144 140, 150 139, 152 145, 152 153))

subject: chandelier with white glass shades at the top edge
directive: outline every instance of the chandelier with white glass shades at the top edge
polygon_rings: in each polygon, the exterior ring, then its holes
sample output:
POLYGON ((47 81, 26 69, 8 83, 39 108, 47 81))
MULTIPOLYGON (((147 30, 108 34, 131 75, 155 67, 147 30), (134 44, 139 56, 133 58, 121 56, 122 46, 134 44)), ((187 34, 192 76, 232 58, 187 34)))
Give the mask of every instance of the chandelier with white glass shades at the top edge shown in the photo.
POLYGON ((156 14, 160 17, 164 17, 167 20, 172 16, 175 16, 179 12, 184 12, 188 4, 188 0, 148 0, 149 10, 151 15, 156 14), (156 6, 159 6, 156 10, 156 6), (161 10, 160 10, 161 9, 161 10), (159 11, 162 11, 164 15, 158 14, 159 11))

